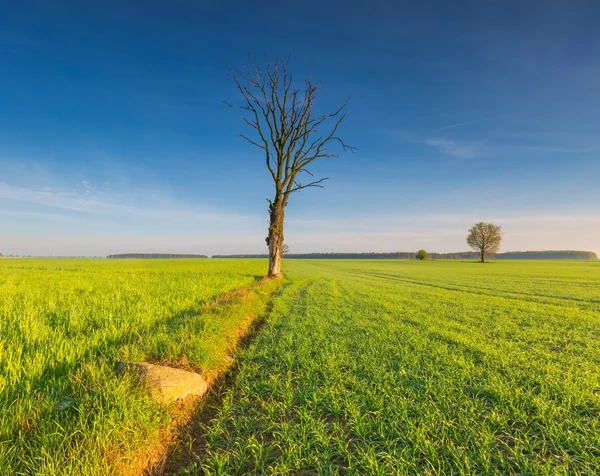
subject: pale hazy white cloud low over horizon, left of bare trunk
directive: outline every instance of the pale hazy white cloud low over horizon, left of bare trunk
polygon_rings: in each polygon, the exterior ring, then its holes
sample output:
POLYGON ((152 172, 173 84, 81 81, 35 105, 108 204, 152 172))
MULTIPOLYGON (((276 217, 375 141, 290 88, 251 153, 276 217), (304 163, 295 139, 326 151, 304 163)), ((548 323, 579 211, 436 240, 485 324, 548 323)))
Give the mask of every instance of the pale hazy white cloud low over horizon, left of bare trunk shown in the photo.
POLYGON ((38 167, 6 157, 0 165, 8 170, 0 181, 4 254, 263 251, 264 217, 207 203, 189 191, 183 198, 159 177, 38 167))

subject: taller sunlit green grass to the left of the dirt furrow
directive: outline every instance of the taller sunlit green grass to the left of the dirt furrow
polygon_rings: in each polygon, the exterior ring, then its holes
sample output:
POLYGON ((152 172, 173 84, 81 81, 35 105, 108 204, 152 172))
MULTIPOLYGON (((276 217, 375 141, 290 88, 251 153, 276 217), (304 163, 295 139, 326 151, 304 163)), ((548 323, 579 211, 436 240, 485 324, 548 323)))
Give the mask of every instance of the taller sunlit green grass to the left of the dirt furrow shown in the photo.
POLYGON ((109 474, 170 419, 119 360, 223 367, 259 260, 0 260, 0 474, 109 474))

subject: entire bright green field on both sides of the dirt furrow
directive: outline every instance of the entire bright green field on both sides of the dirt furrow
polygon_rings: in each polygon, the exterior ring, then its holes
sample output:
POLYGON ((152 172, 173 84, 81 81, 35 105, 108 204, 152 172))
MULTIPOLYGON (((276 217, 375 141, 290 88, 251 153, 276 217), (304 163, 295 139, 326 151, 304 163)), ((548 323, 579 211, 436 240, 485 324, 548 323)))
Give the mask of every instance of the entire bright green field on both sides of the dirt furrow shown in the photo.
MULTIPOLYGON (((218 366, 248 310, 202 304, 264 268, 1 261, 0 468, 115 471, 111 455, 135 452, 168 414, 114 363, 218 366)), ((284 270, 212 418, 195 423, 198 441, 182 439, 182 472, 597 473, 600 263, 289 260, 284 270)), ((248 306, 260 313, 265 301, 248 306)))

